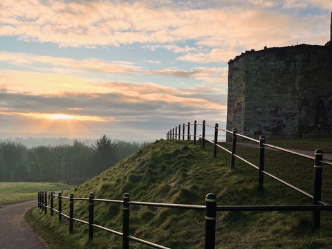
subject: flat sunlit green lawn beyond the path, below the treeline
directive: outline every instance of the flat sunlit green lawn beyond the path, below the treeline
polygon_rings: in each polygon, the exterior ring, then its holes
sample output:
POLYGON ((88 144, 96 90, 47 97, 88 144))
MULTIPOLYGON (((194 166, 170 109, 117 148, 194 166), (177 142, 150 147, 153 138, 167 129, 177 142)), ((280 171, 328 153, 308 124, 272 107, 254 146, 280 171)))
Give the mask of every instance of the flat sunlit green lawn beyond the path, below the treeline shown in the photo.
POLYGON ((42 190, 68 190, 73 185, 64 183, 0 182, 0 205, 14 204, 37 199, 42 190))

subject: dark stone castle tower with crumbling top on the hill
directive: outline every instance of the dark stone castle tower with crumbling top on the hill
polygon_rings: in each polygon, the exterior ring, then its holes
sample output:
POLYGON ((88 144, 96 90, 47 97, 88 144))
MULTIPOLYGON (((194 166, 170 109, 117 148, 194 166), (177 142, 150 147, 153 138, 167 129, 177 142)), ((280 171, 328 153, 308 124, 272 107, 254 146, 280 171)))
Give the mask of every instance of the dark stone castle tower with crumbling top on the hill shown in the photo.
POLYGON ((325 46, 251 50, 228 62, 227 127, 251 138, 331 136, 331 36, 325 46))

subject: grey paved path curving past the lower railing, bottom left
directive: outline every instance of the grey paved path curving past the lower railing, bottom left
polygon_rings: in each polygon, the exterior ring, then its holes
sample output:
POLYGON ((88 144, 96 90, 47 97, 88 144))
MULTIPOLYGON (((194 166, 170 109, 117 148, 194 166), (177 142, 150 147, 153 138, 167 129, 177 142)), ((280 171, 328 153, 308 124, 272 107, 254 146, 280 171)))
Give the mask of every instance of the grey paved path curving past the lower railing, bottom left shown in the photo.
POLYGON ((46 249, 39 236, 24 220, 24 214, 36 201, 0 206, 0 249, 46 249))

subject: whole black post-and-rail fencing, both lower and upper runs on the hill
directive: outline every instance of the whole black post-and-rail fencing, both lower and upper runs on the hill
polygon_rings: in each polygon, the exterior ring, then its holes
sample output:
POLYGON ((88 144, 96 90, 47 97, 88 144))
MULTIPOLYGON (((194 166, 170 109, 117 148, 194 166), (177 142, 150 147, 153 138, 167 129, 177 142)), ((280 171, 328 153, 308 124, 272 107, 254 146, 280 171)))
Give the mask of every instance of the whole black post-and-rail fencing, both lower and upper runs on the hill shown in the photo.
POLYGON ((200 138, 202 140, 202 147, 205 148, 205 141, 211 142, 214 144, 214 156, 216 156, 217 148, 221 148, 231 154, 231 167, 233 168, 235 165, 235 158, 239 158, 243 160, 243 162, 248 163, 248 165, 255 167, 255 169, 259 170, 259 179, 258 179, 258 186, 259 190, 262 190, 263 183, 264 183, 264 175, 270 176, 275 180, 291 187, 293 190, 300 192, 308 196, 309 198, 313 199, 313 205, 216 205, 216 196, 212 193, 207 194, 205 196, 205 203, 206 205, 184 205, 184 204, 173 204, 173 203, 149 203, 149 202, 139 202, 139 201, 130 201, 129 194, 123 194, 123 200, 107 200, 107 199, 95 199, 93 193, 89 195, 89 198, 74 198, 74 194, 70 194, 69 197, 62 196, 62 193, 55 194, 55 192, 38 192, 38 208, 44 211, 44 214, 47 214, 47 210, 50 210, 50 215, 53 216, 54 212, 58 214, 59 221, 62 221, 62 216, 64 216, 69 221, 69 233, 73 233, 73 222, 83 223, 85 225, 89 225, 89 239, 93 240, 93 230, 94 228, 98 228, 100 230, 104 230, 107 232, 111 232, 113 234, 117 234, 118 236, 122 237, 122 248, 127 249, 129 248, 129 241, 136 241, 138 243, 145 244, 147 246, 151 246, 153 248, 167 248, 165 246, 158 245, 156 243, 152 243, 149 241, 145 241, 144 239, 139 239, 133 237, 129 234, 129 210, 131 205, 146 205, 152 207, 159 207, 159 208, 178 208, 178 209, 185 209, 185 210, 202 210, 205 211, 205 249, 212 249, 215 247, 215 233, 216 233, 216 212, 218 211, 313 211, 313 227, 320 228, 320 211, 322 210, 332 210, 332 205, 329 203, 325 203, 321 200, 321 192, 322 192, 322 165, 332 165, 331 162, 327 162, 323 160, 323 153, 320 150, 315 151, 315 157, 306 156, 304 154, 297 153, 295 151, 290 151, 288 149, 283 149, 281 147, 276 147, 274 145, 268 145, 265 143, 264 136, 261 136, 259 140, 255 140, 241 134, 237 133, 237 130, 234 129, 233 131, 227 131, 225 129, 220 129, 218 124, 211 126, 209 124, 205 124, 203 121, 201 124, 198 124, 196 121, 194 124, 188 123, 187 125, 183 124, 183 127, 179 125, 175 129, 171 129, 167 132, 167 139, 176 138, 181 139, 181 129, 183 130, 182 138, 190 140, 193 137, 194 144, 196 144, 196 138, 200 138), (194 125, 194 135, 190 134, 190 126, 194 125), (202 125, 202 135, 197 135, 197 125, 202 125), (187 135, 185 135, 185 127, 187 127, 187 135), (214 129, 214 140, 210 140, 205 136, 205 127, 212 127, 214 129), (177 133, 178 129, 178 133, 177 133), (232 151, 221 147, 218 144, 218 131, 224 131, 226 133, 232 133, 232 151), (236 154, 236 147, 237 147, 237 137, 245 138, 251 140, 252 142, 257 142, 259 144, 259 165, 254 165, 248 160, 241 158, 236 154), (301 156, 304 158, 308 158, 314 160, 314 190, 313 195, 308 194, 304 190, 300 190, 299 188, 291 185, 290 183, 286 183, 277 176, 273 176, 266 171, 264 171, 264 151, 265 147, 270 147, 273 149, 277 149, 280 151, 285 151, 290 154, 294 154, 296 156, 301 156), (58 199, 58 210, 54 208, 54 199, 58 199), (69 201, 69 214, 64 214, 62 212, 62 200, 69 201), (50 201, 50 206, 48 206, 48 201, 50 201), (80 219, 74 218, 74 201, 86 201, 89 202, 89 221, 83 221, 80 219), (95 224, 93 222, 94 216, 94 205, 95 202, 104 202, 104 203, 118 203, 122 204, 123 209, 123 219, 122 219, 122 232, 118 232, 115 230, 111 230, 110 228, 102 227, 101 225, 95 224))

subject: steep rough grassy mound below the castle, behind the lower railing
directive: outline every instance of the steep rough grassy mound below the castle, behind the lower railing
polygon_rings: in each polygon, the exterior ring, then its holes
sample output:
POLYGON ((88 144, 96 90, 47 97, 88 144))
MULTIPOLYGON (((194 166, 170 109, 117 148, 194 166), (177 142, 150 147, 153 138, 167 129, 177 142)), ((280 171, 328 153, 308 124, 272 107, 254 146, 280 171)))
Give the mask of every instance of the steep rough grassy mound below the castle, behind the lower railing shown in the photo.
MULTIPOLYGON (((229 146, 229 145, 226 145, 229 146)), ((316 149, 316 148, 313 148, 316 149)), ((258 149, 238 147, 237 152, 255 163, 258 149)), ((331 168, 331 167, 330 167, 331 168)), ((323 201, 332 203, 332 170, 323 172, 323 201)), ((313 189, 313 162, 288 154, 266 151, 266 170, 301 187, 313 189)), ((115 167, 71 191, 75 197, 95 193, 98 199, 122 200, 129 192, 131 201, 205 205, 205 195, 213 192, 217 205, 296 205, 311 204, 306 196, 267 176, 264 191, 257 190, 258 172, 237 160, 230 169, 230 155, 212 145, 181 140, 158 140, 140 149, 115 167)), ((68 201, 63 201, 68 214, 68 201)), ((56 208, 56 207, 55 207, 56 208)), ((68 221, 33 210, 34 228, 44 231, 51 248, 122 248, 122 238, 95 229, 88 241, 88 226, 74 223, 68 236, 68 221), (60 239, 60 237, 62 237, 60 239), (55 240, 59 241, 55 243, 55 240)), ((75 218, 88 220, 88 203, 75 201, 75 218)), ((131 206, 130 234, 169 248, 203 248, 205 212, 131 206)), ((312 212, 217 212, 216 248, 332 248, 332 215, 322 212, 321 230, 311 228, 312 212)), ((122 205, 95 205, 95 224, 122 232, 122 205)), ((148 248, 130 242, 131 248, 148 248)))

